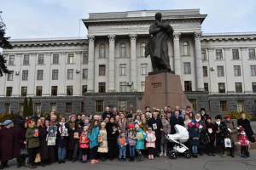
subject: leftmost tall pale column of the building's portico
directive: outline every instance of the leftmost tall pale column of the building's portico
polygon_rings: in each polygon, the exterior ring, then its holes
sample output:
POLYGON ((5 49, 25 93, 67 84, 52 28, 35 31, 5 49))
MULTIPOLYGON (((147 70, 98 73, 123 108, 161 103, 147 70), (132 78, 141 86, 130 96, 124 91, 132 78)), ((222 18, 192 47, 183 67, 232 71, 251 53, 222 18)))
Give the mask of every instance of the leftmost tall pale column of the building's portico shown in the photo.
POLYGON ((88 56, 88 93, 94 92, 94 74, 95 74, 95 61, 94 61, 94 46, 95 36, 87 36, 89 40, 89 56, 88 56))

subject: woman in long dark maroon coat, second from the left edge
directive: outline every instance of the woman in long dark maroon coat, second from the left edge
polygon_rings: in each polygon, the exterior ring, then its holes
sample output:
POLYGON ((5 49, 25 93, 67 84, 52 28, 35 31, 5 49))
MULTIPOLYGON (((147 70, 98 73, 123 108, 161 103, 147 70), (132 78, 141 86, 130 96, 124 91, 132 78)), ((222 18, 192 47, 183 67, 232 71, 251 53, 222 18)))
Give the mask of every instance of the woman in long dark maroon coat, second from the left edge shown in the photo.
POLYGON ((15 130, 15 144, 14 144, 14 157, 17 159, 17 168, 22 165, 25 166, 26 157, 20 156, 20 150, 26 148, 26 128, 27 122, 21 122, 22 117, 16 117, 14 122, 15 130))

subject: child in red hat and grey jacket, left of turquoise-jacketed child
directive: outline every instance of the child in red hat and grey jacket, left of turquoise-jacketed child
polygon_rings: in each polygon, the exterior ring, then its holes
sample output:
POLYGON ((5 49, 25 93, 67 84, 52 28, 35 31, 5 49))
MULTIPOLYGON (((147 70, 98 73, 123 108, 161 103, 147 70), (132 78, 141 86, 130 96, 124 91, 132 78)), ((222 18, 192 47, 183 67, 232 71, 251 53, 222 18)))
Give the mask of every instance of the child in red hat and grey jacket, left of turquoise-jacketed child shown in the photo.
POLYGON ((137 140, 137 133, 134 129, 134 124, 130 124, 128 126, 127 138, 128 138, 128 142, 129 142, 130 161, 134 161, 135 145, 136 145, 136 140, 137 140))

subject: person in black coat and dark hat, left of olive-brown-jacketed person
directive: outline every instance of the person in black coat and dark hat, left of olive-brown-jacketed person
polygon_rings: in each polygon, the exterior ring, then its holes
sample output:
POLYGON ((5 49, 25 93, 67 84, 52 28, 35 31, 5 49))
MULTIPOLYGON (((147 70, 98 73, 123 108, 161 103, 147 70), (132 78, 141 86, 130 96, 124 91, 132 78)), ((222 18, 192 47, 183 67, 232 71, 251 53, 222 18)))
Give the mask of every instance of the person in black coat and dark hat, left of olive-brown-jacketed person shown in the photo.
POLYGON ((227 156, 227 150, 225 150, 224 139, 228 138, 229 130, 225 122, 222 122, 222 116, 215 116, 214 127, 216 129, 216 145, 222 149, 222 157, 227 156))

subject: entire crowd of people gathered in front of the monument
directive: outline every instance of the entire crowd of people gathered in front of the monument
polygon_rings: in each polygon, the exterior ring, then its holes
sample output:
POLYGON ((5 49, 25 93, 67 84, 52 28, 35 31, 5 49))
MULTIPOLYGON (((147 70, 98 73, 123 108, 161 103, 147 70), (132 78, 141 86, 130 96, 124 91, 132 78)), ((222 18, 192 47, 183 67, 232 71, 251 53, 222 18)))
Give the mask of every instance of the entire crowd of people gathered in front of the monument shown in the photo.
POLYGON ((222 150, 221 156, 235 157, 235 143, 241 144, 241 156, 247 157, 247 145, 254 142, 253 130, 245 114, 233 122, 230 115, 207 115, 201 108, 194 114, 188 106, 181 111, 178 106, 163 110, 145 107, 145 112, 130 109, 117 111, 106 108, 102 115, 78 114, 59 119, 51 112, 47 117, 16 116, 14 122, 6 120, 0 129, 1 169, 9 167, 8 161, 16 158, 17 167, 47 166, 54 161, 96 164, 99 160, 143 161, 155 156, 167 156, 174 144, 168 142, 166 134, 176 133, 175 125, 186 127, 189 140, 185 143, 197 158, 205 153, 215 156, 215 148, 222 150), (163 132, 163 133, 162 133, 163 132), (230 143, 230 144, 229 144, 230 143), (227 145, 228 144, 228 145, 227 145), (21 154, 22 152, 22 154, 21 154))

